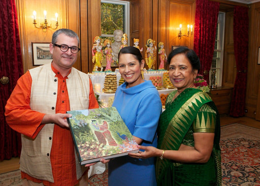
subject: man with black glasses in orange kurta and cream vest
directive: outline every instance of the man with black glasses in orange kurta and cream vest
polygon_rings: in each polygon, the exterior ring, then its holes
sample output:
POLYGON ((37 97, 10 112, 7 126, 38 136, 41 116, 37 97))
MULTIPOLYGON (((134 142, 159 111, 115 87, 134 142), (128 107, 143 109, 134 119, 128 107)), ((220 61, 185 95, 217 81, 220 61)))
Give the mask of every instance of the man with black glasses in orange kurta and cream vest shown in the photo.
POLYGON ((87 185, 69 130, 68 110, 98 108, 87 74, 75 68, 79 38, 70 29, 52 36, 52 63, 27 71, 6 105, 9 126, 22 135, 24 185, 87 185))

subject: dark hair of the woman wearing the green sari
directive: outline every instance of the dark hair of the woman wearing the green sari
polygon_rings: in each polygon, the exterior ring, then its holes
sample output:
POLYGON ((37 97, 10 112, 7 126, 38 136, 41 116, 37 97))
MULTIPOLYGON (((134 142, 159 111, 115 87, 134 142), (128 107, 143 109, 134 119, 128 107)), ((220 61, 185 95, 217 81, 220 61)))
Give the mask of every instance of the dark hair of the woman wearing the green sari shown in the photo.
POLYGON ((184 54, 187 57, 187 59, 189 60, 189 63, 191 65, 192 69, 198 70, 198 73, 200 72, 201 62, 200 62, 198 55, 194 52, 194 50, 191 50, 187 47, 178 47, 178 48, 174 49, 168 55, 167 62, 168 62, 169 65, 171 63, 171 59, 177 54, 184 54))

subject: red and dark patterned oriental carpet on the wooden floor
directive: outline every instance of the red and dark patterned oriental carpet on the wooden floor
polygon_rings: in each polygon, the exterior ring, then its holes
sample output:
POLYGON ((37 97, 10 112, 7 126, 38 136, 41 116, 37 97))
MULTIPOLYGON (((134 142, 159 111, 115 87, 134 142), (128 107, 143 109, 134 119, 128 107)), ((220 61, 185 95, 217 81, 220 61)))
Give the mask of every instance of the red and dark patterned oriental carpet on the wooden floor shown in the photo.
MULTIPOLYGON (((260 186, 260 130, 238 123, 221 127, 222 185, 260 186)), ((89 185, 108 185, 108 171, 89 185)), ((0 186, 20 186, 20 171, 0 174, 0 186)))

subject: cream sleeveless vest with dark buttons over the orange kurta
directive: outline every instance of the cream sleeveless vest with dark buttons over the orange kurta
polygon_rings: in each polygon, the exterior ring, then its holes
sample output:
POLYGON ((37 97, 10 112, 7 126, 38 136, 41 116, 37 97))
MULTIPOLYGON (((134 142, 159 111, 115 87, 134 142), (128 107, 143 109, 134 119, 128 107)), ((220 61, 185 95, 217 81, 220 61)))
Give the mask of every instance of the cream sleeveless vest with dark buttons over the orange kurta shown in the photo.
MULTIPOLYGON (((51 64, 29 70, 31 84, 30 107, 32 110, 46 114, 55 114, 57 101, 58 78, 51 69, 51 64)), ((67 89, 71 110, 88 109, 89 77, 75 68, 72 68, 67 79, 67 89)), ((22 136, 22 150, 20 170, 32 177, 54 182, 50 162, 54 123, 46 124, 35 139, 22 136)), ((79 164, 75 150, 77 179, 84 171, 79 164)))

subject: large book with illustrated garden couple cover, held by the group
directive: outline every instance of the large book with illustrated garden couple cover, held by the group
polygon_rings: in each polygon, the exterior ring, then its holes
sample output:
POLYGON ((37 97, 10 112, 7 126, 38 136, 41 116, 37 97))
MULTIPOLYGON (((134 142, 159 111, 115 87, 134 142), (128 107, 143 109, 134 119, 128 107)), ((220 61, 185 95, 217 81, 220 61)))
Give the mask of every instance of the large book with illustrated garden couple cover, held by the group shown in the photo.
POLYGON ((67 111, 81 165, 138 152, 137 143, 115 107, 67 111))

